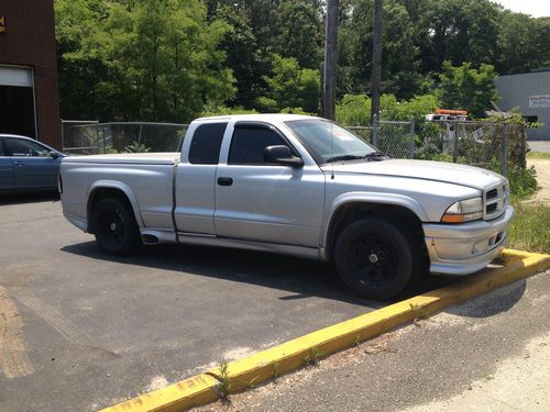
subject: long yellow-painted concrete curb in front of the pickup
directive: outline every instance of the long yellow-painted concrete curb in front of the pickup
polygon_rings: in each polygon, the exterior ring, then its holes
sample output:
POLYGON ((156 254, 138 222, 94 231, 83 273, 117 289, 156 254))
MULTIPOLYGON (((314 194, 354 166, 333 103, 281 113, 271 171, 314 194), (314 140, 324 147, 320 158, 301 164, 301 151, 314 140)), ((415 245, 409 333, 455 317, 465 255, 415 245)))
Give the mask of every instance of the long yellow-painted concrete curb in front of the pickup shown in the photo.
POLYGON ((166 388, 107 408, 103 412, 182 411, 217 400, 223 386, 238 392, 305 364, 353 346, 386 331, 424 319, 443 308, 486 293, 550 268, 550 256, 506 249, 507 265, 487 268, 459 283, 397 302, 309 333, 227 365, 227 374, 209 370, 166 388), (223 385, 220 386, 220 382, 223 385), (220 390, 221 389, 221 390, 220 390))

